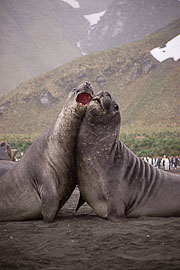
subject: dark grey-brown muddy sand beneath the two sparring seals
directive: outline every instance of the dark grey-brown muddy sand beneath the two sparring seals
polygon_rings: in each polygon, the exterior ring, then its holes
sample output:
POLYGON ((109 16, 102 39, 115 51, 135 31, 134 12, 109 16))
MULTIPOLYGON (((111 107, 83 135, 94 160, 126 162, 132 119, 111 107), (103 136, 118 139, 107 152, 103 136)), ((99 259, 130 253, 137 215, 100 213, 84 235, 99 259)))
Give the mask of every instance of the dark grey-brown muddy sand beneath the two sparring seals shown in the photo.
POLYGON ((84 205, 78 190, 54 223, 0 223, 0 269, 180 269, 180 218, 112 223, 84 205))

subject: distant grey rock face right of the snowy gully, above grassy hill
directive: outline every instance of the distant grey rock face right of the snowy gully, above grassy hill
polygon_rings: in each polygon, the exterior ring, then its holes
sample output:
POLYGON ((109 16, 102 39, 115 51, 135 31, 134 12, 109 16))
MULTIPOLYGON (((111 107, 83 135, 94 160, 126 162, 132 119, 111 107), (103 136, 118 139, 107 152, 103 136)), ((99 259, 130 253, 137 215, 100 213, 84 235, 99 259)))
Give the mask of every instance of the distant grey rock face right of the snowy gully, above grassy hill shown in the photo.
POLYGON ((180 18, 178 0, 113 0, 81 41, 87 54, 117 47, 151 34, 180 18))

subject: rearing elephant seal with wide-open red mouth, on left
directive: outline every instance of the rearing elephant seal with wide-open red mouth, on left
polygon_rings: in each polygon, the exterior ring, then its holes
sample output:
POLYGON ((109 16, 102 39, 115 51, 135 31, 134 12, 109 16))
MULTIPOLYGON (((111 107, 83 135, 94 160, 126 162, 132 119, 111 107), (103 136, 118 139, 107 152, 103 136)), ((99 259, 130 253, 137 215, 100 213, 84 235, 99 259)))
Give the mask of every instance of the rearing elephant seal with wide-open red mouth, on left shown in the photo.
POLYGON ((73 89, 55 124, 0 178, 0 221, 52 221, 73 192, 75 141, 93 95, 92 85, 73 89))

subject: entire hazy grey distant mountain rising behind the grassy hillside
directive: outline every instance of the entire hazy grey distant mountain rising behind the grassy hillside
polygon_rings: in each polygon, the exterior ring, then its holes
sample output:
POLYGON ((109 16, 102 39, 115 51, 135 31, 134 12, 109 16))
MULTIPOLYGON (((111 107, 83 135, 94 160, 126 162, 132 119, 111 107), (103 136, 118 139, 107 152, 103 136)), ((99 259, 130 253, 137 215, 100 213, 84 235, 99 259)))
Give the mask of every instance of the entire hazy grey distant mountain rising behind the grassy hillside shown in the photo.
POLYGON ((180 16, 178 0, 0 0, 0 95, 81 54, 132 42, 180 16), (97 24, 84 15, 106 11, 97 24))

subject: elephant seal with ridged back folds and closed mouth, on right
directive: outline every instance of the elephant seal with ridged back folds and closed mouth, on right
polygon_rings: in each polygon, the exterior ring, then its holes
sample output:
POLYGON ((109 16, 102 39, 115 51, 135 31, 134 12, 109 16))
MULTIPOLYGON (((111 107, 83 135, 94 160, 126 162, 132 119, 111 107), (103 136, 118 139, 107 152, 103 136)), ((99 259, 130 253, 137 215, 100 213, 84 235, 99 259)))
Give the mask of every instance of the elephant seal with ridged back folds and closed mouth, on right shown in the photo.
POLYGON ((119 139, 121 117, 108 92, 89 103, 76 146, 76 175, 81 198, 97 215, 180 216, 180 176, 138 158, 119 139))

